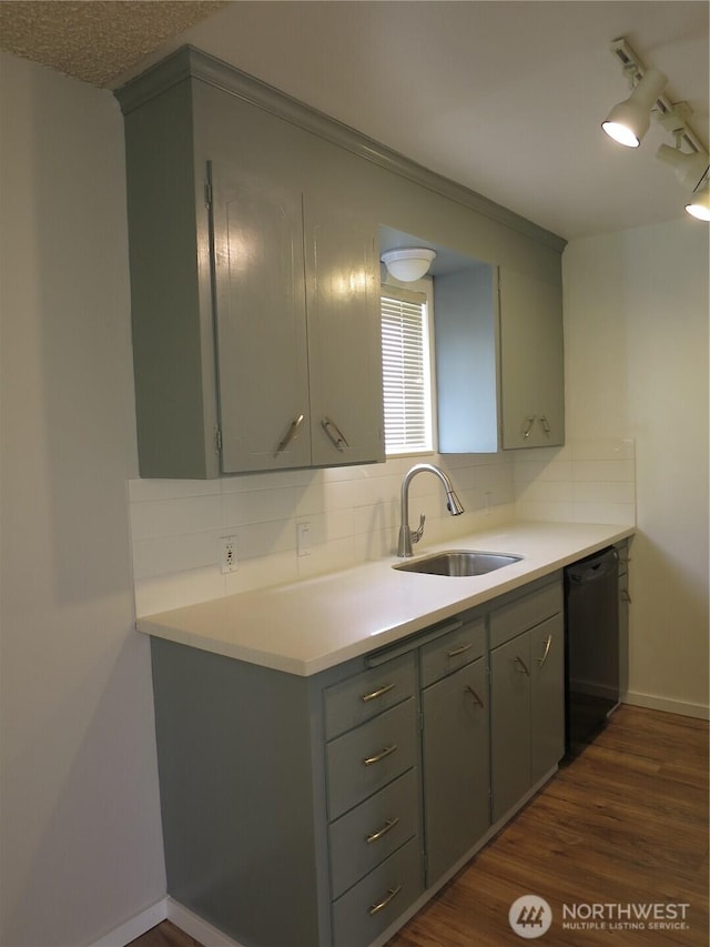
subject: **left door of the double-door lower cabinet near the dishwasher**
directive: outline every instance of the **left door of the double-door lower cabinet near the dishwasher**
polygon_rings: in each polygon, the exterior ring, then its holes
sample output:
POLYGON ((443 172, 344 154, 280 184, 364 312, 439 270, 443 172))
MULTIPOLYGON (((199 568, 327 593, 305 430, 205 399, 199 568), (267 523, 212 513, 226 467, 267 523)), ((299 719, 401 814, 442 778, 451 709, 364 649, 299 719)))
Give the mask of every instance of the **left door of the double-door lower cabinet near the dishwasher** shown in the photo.
POLYGON ((493 820, 530 787, 530 639, 527 633, 490 653, 493 820))

